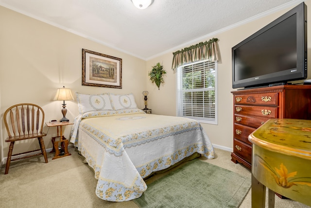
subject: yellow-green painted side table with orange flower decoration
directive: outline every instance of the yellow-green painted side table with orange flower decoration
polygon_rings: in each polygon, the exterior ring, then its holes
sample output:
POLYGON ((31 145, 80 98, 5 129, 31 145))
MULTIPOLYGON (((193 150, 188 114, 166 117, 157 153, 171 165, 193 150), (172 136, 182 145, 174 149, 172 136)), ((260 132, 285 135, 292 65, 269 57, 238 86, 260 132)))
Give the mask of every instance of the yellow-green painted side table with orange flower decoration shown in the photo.
POLYGON ((270 119, 248 136, 252 208, 274 207, 275 192, 311 206, 311 120, 270 119))

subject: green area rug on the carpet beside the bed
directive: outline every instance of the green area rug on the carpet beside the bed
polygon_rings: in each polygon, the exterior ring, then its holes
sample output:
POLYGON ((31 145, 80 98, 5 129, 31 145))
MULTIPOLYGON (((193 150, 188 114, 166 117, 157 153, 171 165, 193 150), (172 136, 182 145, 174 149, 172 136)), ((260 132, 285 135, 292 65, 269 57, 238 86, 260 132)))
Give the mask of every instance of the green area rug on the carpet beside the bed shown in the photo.
POLYGON ((194 159, 147 186, 140 208, 238 208, 251 178, 194 159))

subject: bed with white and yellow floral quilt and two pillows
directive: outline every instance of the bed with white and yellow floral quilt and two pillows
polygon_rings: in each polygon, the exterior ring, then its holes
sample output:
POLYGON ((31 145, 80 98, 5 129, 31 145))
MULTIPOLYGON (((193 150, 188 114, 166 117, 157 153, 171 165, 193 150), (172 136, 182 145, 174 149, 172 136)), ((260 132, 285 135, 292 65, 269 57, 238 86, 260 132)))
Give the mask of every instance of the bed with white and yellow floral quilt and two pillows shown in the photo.
POLYGON ((147 114, 132 94, 77 93, 77 100, 70 142, 94 170, 101 199, 138 198, 147 189, 144 178, 195 152, 214 158, 206 132, 193 119, 147 114))

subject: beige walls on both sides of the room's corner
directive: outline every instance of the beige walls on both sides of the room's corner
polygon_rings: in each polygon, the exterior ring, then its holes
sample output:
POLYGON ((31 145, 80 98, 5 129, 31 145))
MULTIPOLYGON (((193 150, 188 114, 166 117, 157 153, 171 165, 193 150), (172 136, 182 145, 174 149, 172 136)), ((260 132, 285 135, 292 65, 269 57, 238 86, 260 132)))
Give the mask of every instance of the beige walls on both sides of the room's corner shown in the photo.
MULTIPOLYGON (((305 3, 311 6, 310 0, 306 0, 305 3)), ((210 38, 219 39, 218 125, 202 124, 211 142, 217 147, 226 150, 231 150, 233 147, 233 97, 230 93, 233 90, 231 87, 231 48, 289 9, 211 37, 196 40, 182 47, 188 47, 210 38)), ((33 102, 40 105, 46 113, 46 121, 52 118, 60 119, 62 117, 61 101, 52 101, 52 98, 56 89, 63 85, 70 88, 73 93, 134 93, 139 108, 144 107, 141 92, 148 90, 147 105, 153 113, 176 115, 176 74, 171 69, 172 53, 176 50, 145 61, 1 6, 0 29, 1 120, 8 107, 20 102, 33 102), (122 58, 122 89, 81 85, 82 48, 122 58), (160 86, 160 90, 151 83, 147 76, 157 62, 162 63, 168 72, 165 76, 165 84, 160 86)), ((310 29, 308 34, 311 35, 310 29)), ((73 121, 78 114, 77 103, 76 101, 66 103, 68 109, 66 117, 73 121)), ((69 137, 69 130, 70 127, 66 127, 66 137, 69 137)), ((45 131, 48 131, 48 135, 44 138, 46 146, 52 148, 51 137, 55 136, 56 130, 53 128, 48 130, 45 127, 45 131)), ((4 142, 7 133, 3 122, 0 136, 3 144, 2 153, 0 150, 2 160, 8 152, 8 144, 4 142)), ((31 148, 29 144, 24 145, 27 149, 31 148)), ((17 144, 16 148, 16 151, 20 151, 21 145, 17 144)))

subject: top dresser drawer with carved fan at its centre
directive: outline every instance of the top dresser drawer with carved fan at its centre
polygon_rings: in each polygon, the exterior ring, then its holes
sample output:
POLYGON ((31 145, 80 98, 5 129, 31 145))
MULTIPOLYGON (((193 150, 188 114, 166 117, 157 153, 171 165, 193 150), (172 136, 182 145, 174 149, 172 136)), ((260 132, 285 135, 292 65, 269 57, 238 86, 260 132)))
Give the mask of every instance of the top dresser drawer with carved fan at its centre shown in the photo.
POLYGON ((252 95, 234 95, 236 105, 277 105, 278 93, 260 93, 252 95))

